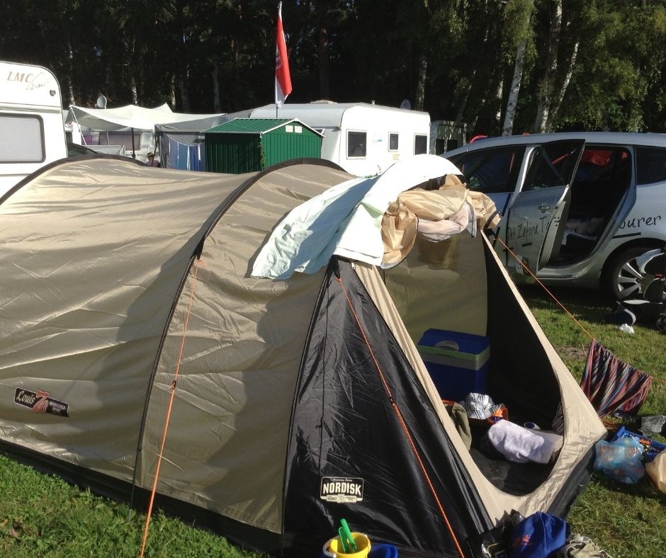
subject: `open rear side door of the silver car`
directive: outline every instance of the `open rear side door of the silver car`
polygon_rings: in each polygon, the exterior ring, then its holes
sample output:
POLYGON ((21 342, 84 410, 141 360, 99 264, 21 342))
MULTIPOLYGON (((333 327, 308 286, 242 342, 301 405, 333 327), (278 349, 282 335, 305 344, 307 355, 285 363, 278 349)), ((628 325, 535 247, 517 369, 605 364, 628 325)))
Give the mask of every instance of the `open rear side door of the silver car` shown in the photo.
MULTIPOLYGON (((531 149, 521 190, 507 210, 507 244, 536 273, 558 256, 571 199, 571 183, 585 140, 546 142, 531 149)), ((517 263, 517 271, 523 273, 517 263)))

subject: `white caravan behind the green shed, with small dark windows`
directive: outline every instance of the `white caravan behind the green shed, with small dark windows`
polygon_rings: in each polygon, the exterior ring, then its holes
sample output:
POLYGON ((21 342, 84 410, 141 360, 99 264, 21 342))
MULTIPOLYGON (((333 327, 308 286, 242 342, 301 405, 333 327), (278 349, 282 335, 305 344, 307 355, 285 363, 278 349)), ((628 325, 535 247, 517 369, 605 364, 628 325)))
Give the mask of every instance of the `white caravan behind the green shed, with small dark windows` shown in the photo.
MULTIPOLYGON (((226 115, 235 118, 235 115, 226 115)), ((322 159, 356 176, 374 176, 395 161, 429 152, 430 115, 371 103, 313 101, 243 111, 249 118, 298 118, 321 132, 322 159)))

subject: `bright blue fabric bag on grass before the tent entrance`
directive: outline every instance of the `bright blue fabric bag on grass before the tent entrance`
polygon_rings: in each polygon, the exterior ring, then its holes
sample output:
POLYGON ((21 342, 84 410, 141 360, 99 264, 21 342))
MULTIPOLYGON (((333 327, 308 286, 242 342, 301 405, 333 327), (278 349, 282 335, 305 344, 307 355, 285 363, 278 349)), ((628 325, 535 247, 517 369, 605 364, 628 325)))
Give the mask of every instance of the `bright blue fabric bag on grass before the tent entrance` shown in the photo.
POLYGON ((565 545, 567 522, 537 511, 518 523, 511 533, 510 558, 546 558, 565 545))

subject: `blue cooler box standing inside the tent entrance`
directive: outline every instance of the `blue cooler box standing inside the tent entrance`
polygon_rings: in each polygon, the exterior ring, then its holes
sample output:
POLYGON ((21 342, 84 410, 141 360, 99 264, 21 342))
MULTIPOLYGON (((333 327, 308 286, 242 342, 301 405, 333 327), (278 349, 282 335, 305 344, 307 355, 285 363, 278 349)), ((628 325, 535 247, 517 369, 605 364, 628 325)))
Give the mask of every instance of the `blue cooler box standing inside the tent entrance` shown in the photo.
POLYGON ((486 392, 489 338, 429 329, 417 348, 442 399, 462 401, 468 393, 486 392))

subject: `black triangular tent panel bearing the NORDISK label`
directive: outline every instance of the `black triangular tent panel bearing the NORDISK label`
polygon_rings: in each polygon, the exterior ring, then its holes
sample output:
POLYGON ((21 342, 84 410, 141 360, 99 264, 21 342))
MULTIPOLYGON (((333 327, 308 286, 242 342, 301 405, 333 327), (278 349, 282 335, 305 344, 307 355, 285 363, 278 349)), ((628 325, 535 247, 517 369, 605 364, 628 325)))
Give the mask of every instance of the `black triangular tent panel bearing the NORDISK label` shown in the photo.
POLYGON ((339 273, 327 274, 297 385, 286 534, 322 545, 345 518, 371 540, 457 556, 384 381, 461 546, 490 528, 485 508, 368 292, 348 262, 339 273))

